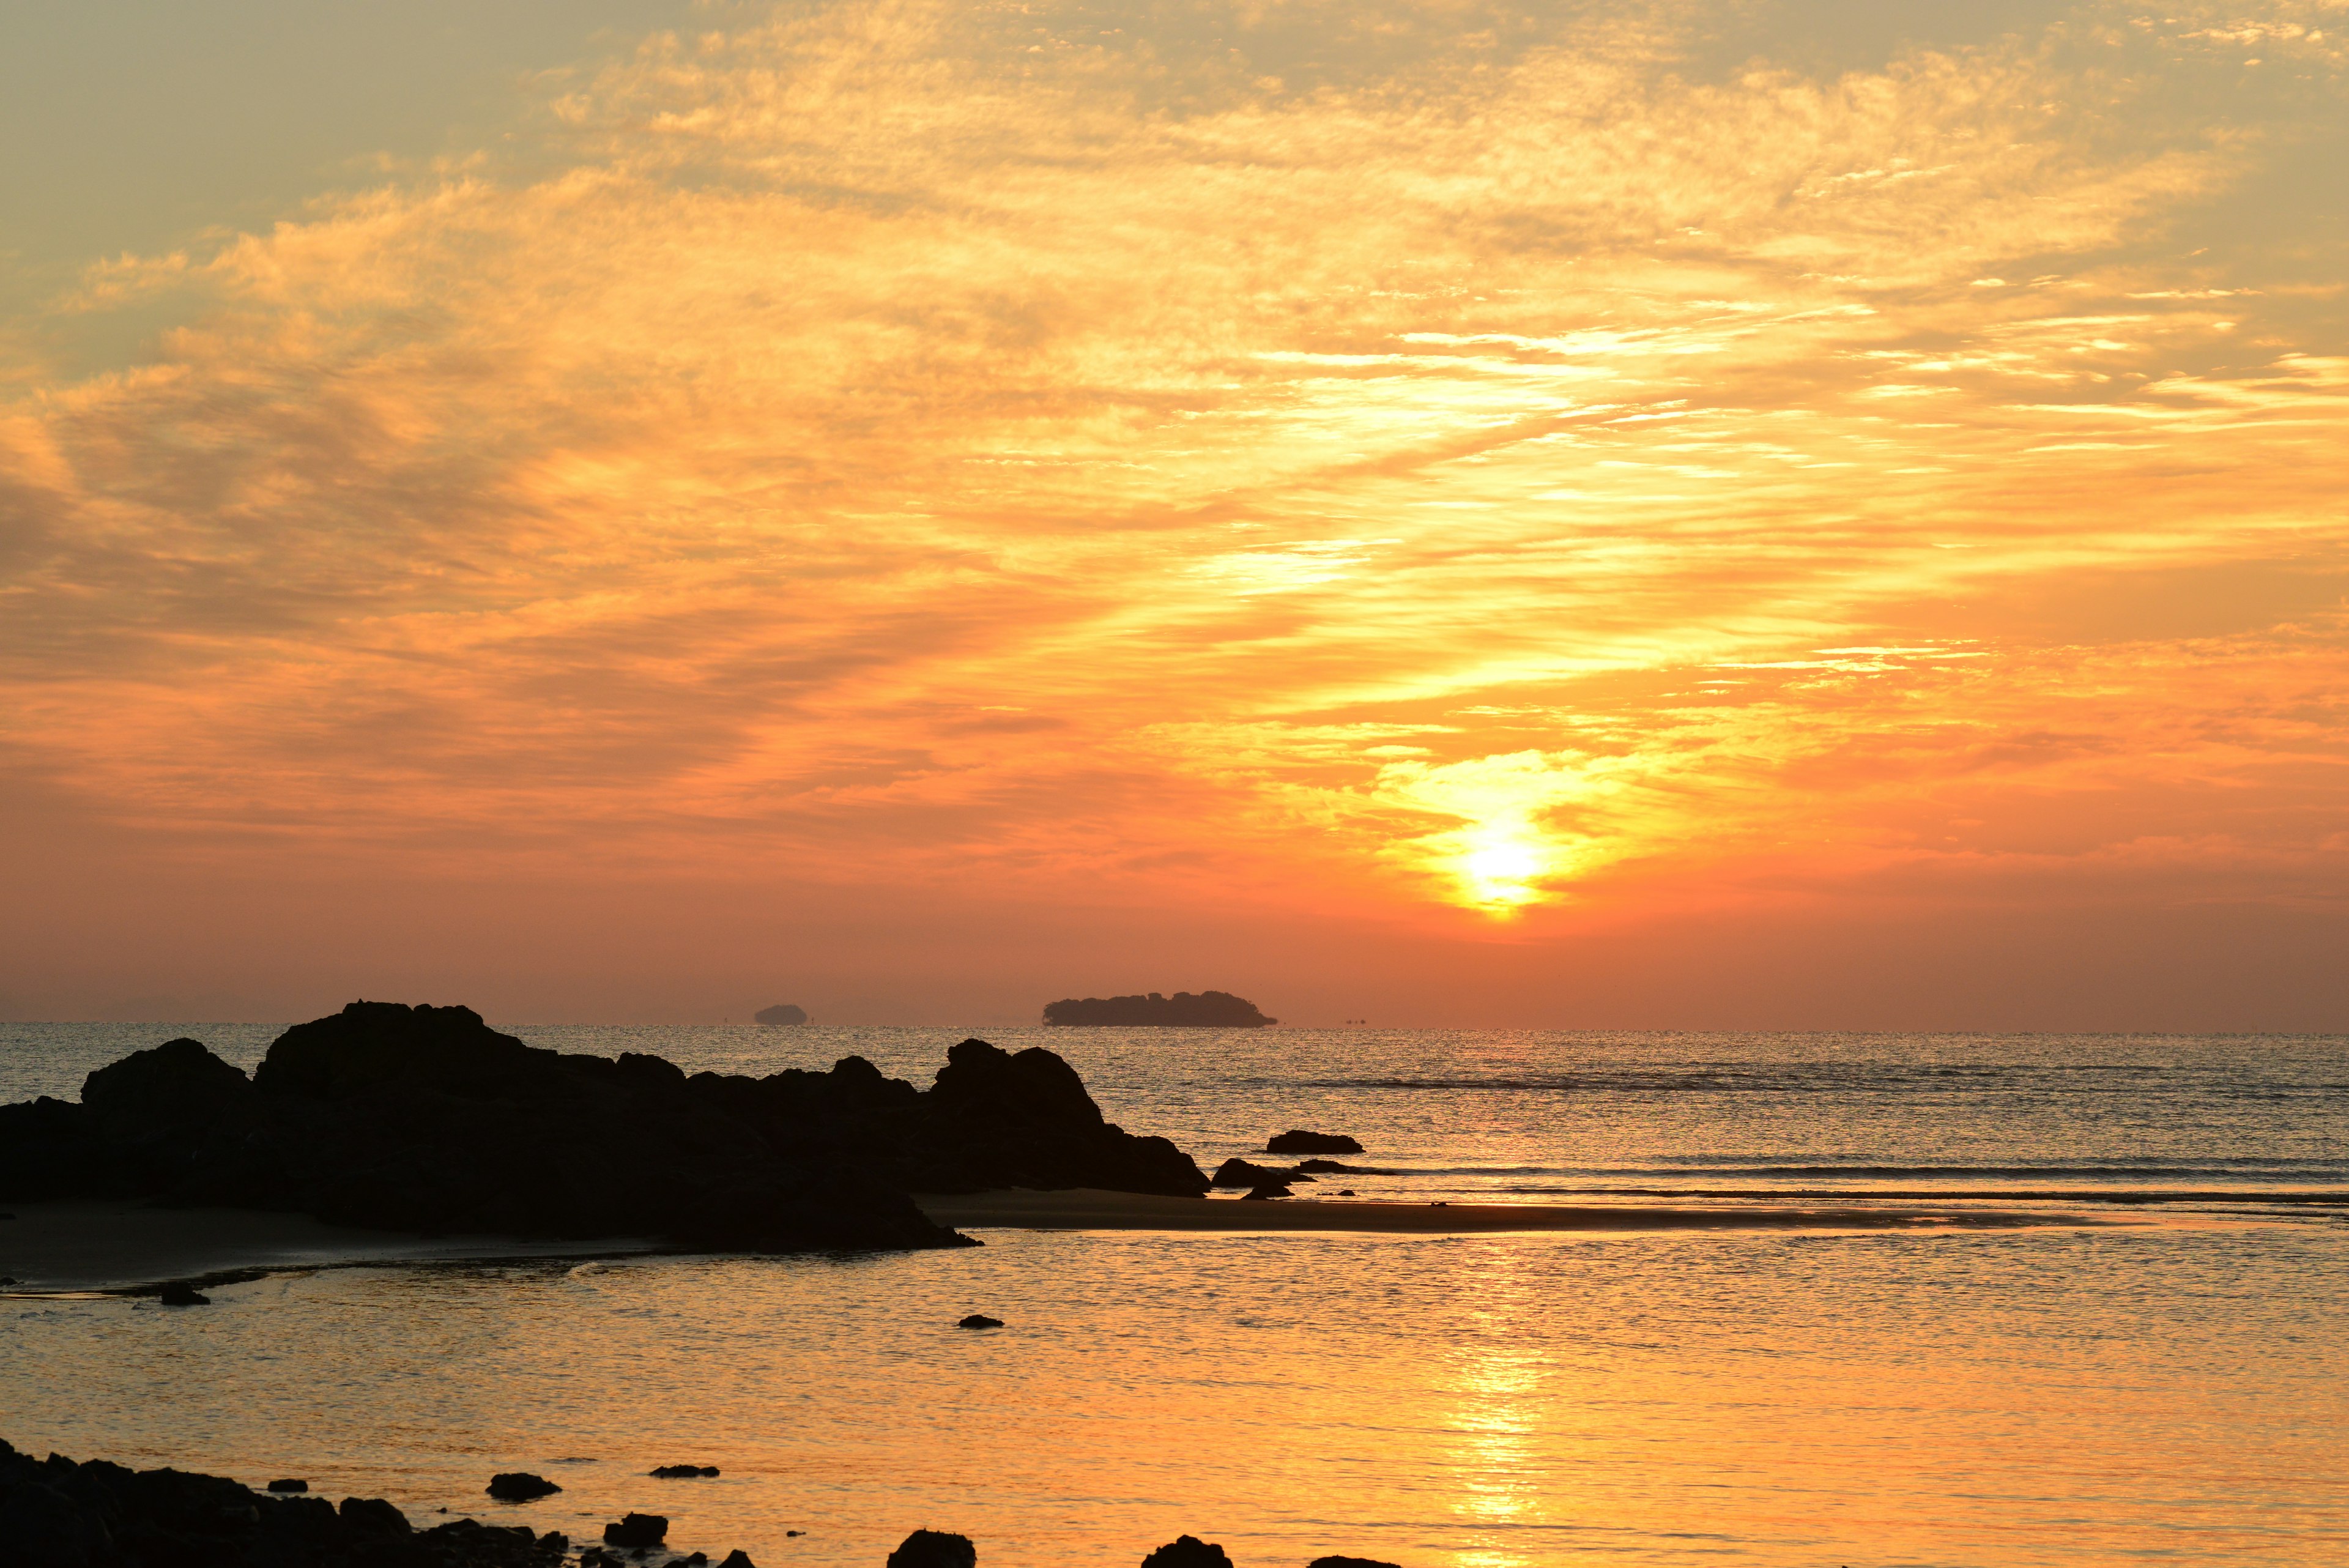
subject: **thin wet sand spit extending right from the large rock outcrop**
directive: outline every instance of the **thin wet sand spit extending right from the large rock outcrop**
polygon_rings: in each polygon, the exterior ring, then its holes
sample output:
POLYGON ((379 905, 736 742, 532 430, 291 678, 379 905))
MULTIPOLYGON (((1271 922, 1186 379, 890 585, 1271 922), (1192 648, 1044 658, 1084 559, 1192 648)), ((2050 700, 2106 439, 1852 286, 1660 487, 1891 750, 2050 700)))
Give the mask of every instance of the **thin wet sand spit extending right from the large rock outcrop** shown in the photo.
POLYGON ((1663 1204, 1386 1204, 1377 1199, 1177 1199, 1137 1192, 914 1194, 956 1229, 1362 1229, 1463 1234, 1501 1229, 2015 1229, 2105 1225, 2004 1208, 1663 1206, 1663 1204))

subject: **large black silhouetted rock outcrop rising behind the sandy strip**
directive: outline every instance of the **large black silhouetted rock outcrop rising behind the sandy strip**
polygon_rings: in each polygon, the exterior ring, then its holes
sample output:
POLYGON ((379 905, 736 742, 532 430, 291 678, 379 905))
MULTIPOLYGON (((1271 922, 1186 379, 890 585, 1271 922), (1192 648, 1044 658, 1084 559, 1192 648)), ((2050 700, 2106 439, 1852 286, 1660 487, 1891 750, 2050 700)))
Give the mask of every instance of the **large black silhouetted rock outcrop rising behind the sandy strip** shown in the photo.
POLYGON ((686 1074, 566 1056, 463 1006, 352 1001, 251 1077, 174 1039, 80 1103, 0 1105, 0 1201, 153 1199, 336 1225, 660 1237, 723 1251, 972 1246, 911 1192, 1102 1187, 1196 1197, 1165 1138, 1102 1119, 1052 1051, 965 1039, 930 1088, 832 1072, 686 1074))

